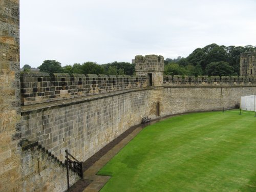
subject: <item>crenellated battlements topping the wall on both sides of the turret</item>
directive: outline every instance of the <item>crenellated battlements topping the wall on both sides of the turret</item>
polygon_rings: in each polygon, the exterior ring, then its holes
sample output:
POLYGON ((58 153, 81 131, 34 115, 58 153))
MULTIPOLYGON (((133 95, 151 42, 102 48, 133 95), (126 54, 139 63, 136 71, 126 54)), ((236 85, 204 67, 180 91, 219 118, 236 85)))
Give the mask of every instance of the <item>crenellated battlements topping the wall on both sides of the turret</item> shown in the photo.
MULTIPOLYGON (((155 57, 155 59, 158 57, 155 57)), ((144 59, 144 57, 143 57, 144 59)), ((148 59, 148 58, 147 58, 148 59)), ((44 103, 148 86, 147 76, 29 73, 20 75, 22 105, 44 103)), ((162 86, 255 86, 256 79, 246 76, 164 75, 162 86)), ((160 84, 161 86, 161 84, 160 84)))

